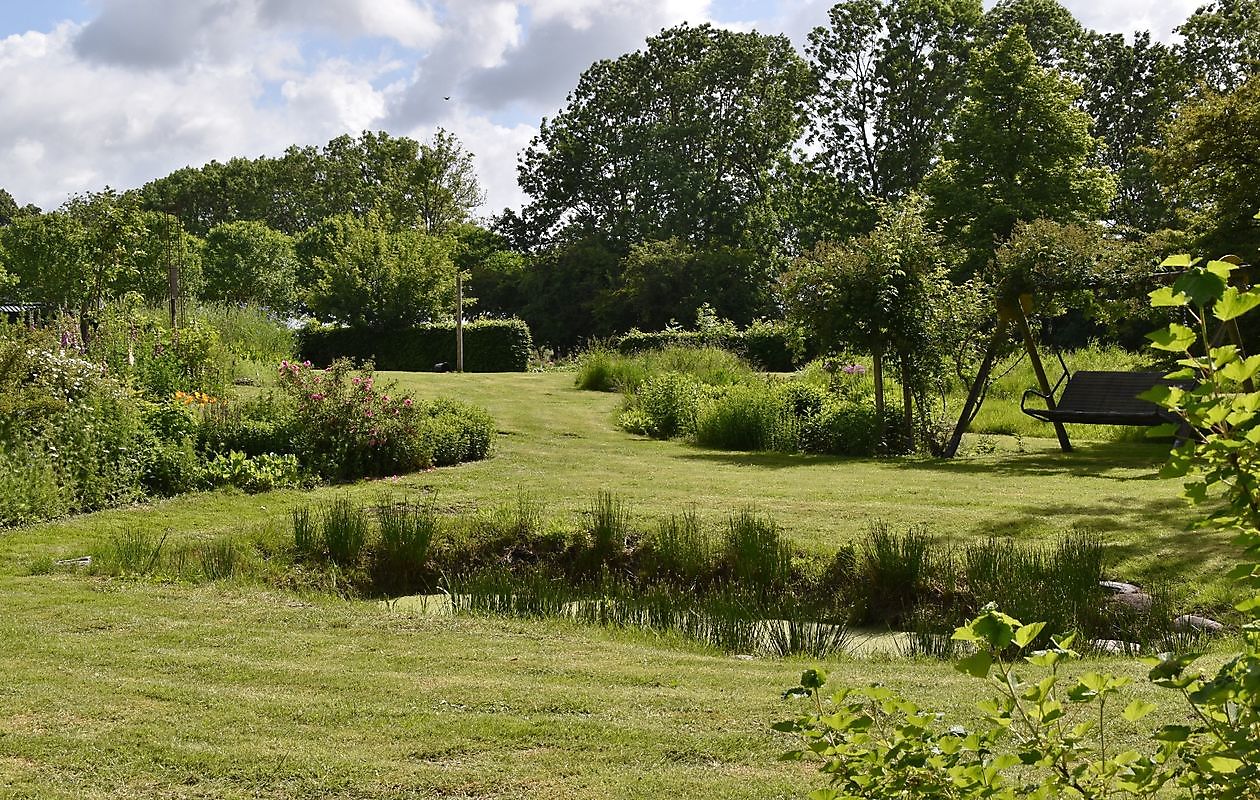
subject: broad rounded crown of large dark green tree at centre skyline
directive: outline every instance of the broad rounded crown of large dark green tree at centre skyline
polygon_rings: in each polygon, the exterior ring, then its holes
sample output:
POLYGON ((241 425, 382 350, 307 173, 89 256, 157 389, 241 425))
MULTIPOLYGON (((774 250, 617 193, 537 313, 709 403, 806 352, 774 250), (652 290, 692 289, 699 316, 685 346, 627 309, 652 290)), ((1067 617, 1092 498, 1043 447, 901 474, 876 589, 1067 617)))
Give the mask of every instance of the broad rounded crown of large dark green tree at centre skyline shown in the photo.
POLYGON ((774 246, 774 169, 799 139, 809 68, 785 37, 682 25, 602 60, 519 161, 538 241, 774 246))

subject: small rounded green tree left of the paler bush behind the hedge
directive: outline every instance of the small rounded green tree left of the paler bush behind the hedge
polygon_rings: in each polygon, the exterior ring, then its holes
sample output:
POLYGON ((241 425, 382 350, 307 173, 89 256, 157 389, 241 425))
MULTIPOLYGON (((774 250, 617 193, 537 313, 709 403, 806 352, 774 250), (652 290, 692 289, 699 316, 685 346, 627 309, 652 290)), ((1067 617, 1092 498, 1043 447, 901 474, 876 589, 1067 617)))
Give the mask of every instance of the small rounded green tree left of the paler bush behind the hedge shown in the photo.
POLYGON ((265 223, 241 220, 205 234, 202 297, 224 305, 255 304, 285 312, 296 299, 294 241, 265 223))

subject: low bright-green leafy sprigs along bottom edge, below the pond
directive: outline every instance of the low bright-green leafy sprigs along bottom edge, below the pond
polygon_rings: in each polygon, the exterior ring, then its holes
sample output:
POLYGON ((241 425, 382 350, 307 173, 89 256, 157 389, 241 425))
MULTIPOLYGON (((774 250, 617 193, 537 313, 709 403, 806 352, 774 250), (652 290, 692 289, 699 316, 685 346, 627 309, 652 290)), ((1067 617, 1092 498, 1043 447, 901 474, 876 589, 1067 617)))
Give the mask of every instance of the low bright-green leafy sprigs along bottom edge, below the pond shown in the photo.
MULTIPOLYGON (((1159 743, 1152 756, 1109 750, 1115 721, 1108 707, 1121 702, 1129 679, 1092 671, 1065 678, 1063 665, 1079 658, 1074 636, 1032 650, 1043 629, 989 606, 955 631, 974 648, 958 669, 994 693, 971 731, 945 728, 939 714, 878 685, 824 699, 827 674, 806 670, 786 697, 808 698, 811 711, 774 726, 800 736, 805 748, 784 757, 820 757, 833 789, 818 797, 1153 796, 1173 775, 1176 745, 1159 743), (1028 668, 1037 674, 1028 677, 1028 668)), ((1134 723, 1153 708, 1133 700, 1123 716, 1134 723)))

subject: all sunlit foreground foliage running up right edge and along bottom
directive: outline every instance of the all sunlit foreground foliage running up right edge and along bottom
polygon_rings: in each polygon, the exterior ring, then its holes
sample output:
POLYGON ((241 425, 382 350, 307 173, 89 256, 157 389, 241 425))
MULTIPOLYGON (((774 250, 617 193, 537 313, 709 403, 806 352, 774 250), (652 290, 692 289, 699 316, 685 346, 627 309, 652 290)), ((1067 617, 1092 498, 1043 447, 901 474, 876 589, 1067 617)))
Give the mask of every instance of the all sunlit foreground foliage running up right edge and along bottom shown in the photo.
MULTIPOLYGON (((1187 477, 1187 496, 1213 505, 1203 524, 1239 534, 1244 561, 1231 574, 1250 593, 1237 606, 1250 619, 1244 651, 1215 675, 1191 671, 1198 654, 1149 659, 1150 680, 1182 695, 1192 712, 1189 724, 1157 729, 1147 755, 1116 752, 1114 745, 1109 750, 1114 738, 1109 732, 1119 721, 1108 708, 1123 702, 1119 693, 1129 679, 1096 671, 1066 679, 1061 666, 1077 655, 1071 649, 1074 636, 1051 637, 1048 646, 1033 650, 1046 624, 1024 625, 990 603, 954 634, 974 650, 958 661, 958 669, 987 680, 994 690, 992 699, 980 703, 985 722, 974 732, 941 731, 936 714, 879 687, 840 689, 824 704, 827 677, 819 670, 806 671, 801 685, 789 689, 789 697, 813 699, 813 711, 775 727, 805 742, 805 750, 788 757, 822 758, 834 789, 815 796, 886 797, 914 791, 915 796, 1094 799, 1157 796, 1176 786, 1178 796, 1241 799, 1260 790, 1255 748, 1260 736, 1260 393, 1251 384, 1260 357, 1245 357, 1237 345, 1213 346, 1210 329, 1213 321, 1228 325, 1260 306, 1260 291, 1231 286, 1235 267, 1228 262, 1200 265, 1183 256, 1164 266, 1184 271, 1173 286, 1153 291, 1152 302, 1182 309, 1194 328, 1173 323, 1150 334, 1150 340, 1154 348, 1181 357, 1181 369, 1172 377, 1196 386, 1159 387, 1147 397, 1184 423, 1187 441, 1174 450, 1164 474, 1187 477), (1026 677, 1024 666, 1012 656, 1041 675, 1026 677)), ((1166 432, 1177 427, 1171 425, 1166 432)), ((1061 557, 1084 556, 1097 563, 1085 552, 1087 543, 1066 549, 1061 557)), ((1009 569, 997 563, 1003 556, 993 547, 975 551, 968 577, 984 581, 1009 569)), ((1096 586, 1092 574, 1082 572, 1079 578, 1076 593, 1086 583, 1096 586)), ((1036 595, 1037 588, 1024 585, 1019 592, 1036 595)), ((1119 716, 1131 724, 1154 708, 1134 699, 1119 716)))

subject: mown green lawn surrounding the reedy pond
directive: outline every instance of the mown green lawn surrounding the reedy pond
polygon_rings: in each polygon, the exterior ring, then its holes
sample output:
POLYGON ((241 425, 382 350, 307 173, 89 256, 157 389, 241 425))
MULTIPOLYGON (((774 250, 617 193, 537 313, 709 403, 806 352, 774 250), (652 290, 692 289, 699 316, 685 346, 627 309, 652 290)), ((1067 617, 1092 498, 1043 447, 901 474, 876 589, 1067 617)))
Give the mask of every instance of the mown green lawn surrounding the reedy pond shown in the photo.
MULTIPOLYGON (((566 519, 607 489, 643 522, 694 504, 713 524, 752 505, 819 549, 861 537, 873 519, 959 542, 1087 527, 1111 546, 1118 576, 1181 576, 1208 601, 1225 591, 1227 544, 1188 530, 1194 513, 1176 481, 1157 477, 1158 446, 1091 443, 1063 456, 1052 441, 1024 440, 1029 452, 950 464, 721 454, 617 431, 619 398, 577 392, 571 374, 392 377, 488 407, 500 428, 495 457, 312 494, 186 496, 0 535, 0 797, 780 797, 819 785, 809 769, 775 761, 786 742, 767 731, 804 661, 261 586, 28 574, 125 530, 179 539, 278 529, 289 509, 336 494, 436 491, 441 508, 469 510, 524 491, 566 519)), ((829 669, 963 716, 978 688, 940 664, 829 669)), ((1152 724, 1176 714, 1173 700, 1163 706, 1152 724)))

